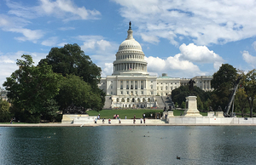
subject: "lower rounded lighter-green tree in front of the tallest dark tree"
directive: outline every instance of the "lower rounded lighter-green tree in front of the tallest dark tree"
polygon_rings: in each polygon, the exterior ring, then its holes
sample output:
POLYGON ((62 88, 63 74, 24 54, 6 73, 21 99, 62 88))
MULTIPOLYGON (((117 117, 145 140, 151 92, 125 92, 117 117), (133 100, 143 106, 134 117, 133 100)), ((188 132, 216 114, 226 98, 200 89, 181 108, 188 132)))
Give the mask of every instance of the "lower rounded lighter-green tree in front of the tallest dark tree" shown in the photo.
POLYGON ((89 83, 85 83, 81 77, 75 75, 67 75, 61 80, 57 101, 64 113, 70 105, 83 106, 84 110, 102 110, 101 95, 95 93, 89 83))

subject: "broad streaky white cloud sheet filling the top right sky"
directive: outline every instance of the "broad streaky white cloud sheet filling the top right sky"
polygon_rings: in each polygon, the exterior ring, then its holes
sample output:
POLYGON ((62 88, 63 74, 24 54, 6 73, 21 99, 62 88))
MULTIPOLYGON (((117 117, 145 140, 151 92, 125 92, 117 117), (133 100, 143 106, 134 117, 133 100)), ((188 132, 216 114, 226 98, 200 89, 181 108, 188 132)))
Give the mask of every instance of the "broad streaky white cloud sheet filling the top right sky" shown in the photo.
POLYGON ((121 16, 131 20, 148 43, 166 38, 178 45, 189 38, 197 45, 224 44, 256 35, 254 1, 112 1, 121 5, 121 16))

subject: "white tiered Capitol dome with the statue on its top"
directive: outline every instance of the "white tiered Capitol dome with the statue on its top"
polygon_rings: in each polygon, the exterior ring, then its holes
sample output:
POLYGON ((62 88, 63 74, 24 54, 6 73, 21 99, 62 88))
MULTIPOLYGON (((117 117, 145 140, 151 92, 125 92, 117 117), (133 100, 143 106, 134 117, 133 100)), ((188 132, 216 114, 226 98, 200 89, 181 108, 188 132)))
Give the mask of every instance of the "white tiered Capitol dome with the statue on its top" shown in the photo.
POLYGON ((128 36, 119 46, 116 60, 113 61, 113 75, 148 75, 147 61, 140 43, 132 36, 131 23, 128 36))

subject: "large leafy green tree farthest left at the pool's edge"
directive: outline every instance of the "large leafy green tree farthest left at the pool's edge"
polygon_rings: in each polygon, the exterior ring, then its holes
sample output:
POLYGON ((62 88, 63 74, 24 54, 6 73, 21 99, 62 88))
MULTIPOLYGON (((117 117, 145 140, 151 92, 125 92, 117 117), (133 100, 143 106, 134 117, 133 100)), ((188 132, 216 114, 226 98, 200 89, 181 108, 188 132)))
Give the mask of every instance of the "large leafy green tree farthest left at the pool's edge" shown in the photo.
POLYGON ((6 78, 3 86, 9 91, 8 97, 17 112, 15 115, 19 114, 16 118, 27 120, 25 122, 30 122, 30 119, 40 122, 40 115, 55 113, 58 110, 56 103, 52 105, 49 102, 54 102, 54 97, 58 94, 60 76, 46 63, 40 66, 32 65, 30 55, 21 57, 25 60, 17 60, 19 69, 6 78))

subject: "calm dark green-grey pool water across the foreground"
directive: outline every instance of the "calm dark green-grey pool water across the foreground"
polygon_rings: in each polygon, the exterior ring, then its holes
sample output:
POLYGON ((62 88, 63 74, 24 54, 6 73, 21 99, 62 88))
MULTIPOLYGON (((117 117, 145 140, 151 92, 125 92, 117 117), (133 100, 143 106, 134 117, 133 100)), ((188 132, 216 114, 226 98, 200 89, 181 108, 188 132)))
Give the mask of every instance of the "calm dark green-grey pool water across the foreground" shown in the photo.
POLYGON ((253 164, 256 156, 255 127, 0 128, 0 134, 0 164, 253 164))

